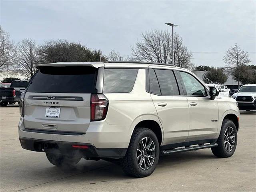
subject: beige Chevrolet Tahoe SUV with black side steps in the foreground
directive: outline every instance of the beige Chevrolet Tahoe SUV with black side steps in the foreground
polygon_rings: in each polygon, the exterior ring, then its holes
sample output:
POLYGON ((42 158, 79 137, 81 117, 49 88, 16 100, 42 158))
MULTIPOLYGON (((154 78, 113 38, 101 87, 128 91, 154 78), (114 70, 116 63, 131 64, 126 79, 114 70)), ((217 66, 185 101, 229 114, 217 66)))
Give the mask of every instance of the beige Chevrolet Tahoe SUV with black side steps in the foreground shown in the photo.
POLYGON ((55 166, 120 160, 124 172, 145 177, 160 155, 211 148, 226 158, 236 150, 236 100, 186 69, 143 62, 36 67, 21 96, 19 138, 55 166))

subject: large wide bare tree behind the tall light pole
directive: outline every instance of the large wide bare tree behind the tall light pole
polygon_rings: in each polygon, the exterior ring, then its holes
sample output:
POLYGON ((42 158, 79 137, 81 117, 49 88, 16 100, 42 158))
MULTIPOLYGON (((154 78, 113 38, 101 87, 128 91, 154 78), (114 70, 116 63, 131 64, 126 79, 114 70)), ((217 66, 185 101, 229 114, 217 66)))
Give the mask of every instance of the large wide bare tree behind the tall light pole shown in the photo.
MULTIPOLYGON (((182 44, 182 38, 174 36, 174 64, 180 67, 192 68, 192 54, 182 44)), ((142 33, 142 40, 131 47, 130 60, 172 63, 172 36, 168 31, 152 30, 142 33)))

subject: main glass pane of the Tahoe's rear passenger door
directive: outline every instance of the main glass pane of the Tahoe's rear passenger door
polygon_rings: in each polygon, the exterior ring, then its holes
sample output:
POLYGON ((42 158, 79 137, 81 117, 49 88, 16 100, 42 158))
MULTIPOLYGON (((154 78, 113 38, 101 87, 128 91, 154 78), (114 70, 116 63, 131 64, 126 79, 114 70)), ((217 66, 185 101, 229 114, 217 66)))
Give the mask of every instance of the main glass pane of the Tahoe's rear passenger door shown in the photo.
POLYGON ((172 70, 155 69, 162 95, 179 95, 177 82, 172 70))

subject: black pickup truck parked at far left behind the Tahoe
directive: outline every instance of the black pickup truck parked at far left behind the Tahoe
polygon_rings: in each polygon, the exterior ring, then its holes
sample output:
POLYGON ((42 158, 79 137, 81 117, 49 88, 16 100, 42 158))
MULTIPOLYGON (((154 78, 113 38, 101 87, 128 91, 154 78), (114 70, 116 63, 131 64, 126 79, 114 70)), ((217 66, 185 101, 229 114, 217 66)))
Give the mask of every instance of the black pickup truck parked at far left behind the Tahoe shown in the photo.
POLYGON ((26 89, 27 80, 12 81, 10 87, 0 84, 0 106, 5 107, 9 104, 20 102, 20 94, 26 89))

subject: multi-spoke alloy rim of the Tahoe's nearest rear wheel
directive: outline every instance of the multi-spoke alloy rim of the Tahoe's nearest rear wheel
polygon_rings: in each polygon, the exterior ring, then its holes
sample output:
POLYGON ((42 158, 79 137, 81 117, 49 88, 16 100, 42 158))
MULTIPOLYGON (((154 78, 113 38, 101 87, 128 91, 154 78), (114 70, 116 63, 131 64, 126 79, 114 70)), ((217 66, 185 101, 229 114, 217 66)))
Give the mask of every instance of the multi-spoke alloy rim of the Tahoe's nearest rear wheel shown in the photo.
POLYGON ((149 169, 153 165, 155 157, 156 147, 154 141, 150 137, 142 138, 136 152, 139 167, 143 170, 149 169))

